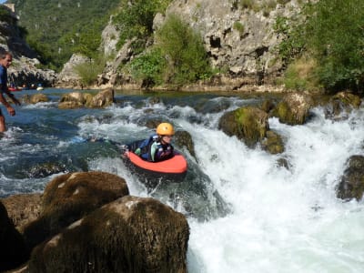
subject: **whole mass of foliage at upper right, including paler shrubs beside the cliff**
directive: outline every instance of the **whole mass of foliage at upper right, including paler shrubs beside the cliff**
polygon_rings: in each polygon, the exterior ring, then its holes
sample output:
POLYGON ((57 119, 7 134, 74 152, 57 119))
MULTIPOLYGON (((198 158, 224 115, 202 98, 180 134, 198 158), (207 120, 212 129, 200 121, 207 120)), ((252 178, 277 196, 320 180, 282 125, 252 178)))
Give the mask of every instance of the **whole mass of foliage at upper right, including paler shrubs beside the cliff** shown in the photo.
POLYGON ((302 15, 290 20, 279 17, 276 24, 278 33, 287 36, 279 52, 288 64, 290 76, 296 69, 296 84, 302 80, 296 65, 302 66, 302 62, 297 62, 300 58, 306 59, 308 66, 316 64, 306 84, 314 79, 318 86, 330 91, 346 88, 363 91, 364 2, 320 0, 308 3, 302 15))

